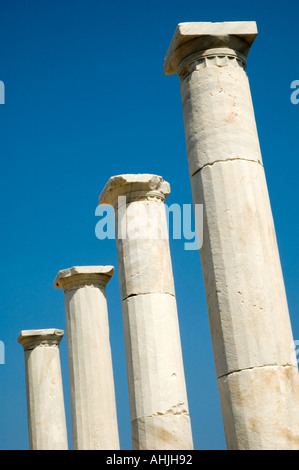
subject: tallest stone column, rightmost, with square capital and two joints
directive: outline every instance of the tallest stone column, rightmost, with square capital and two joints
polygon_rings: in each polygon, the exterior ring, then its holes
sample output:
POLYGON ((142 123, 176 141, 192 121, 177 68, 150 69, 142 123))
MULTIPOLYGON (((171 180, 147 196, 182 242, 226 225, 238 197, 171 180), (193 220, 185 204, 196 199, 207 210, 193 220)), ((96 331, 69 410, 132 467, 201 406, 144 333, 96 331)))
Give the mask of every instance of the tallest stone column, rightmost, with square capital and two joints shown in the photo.
POLYGON ((298 370, 246 57, 255 22, 181 23, 180 78, 201 261, 229 449, 299 447, 298 370))

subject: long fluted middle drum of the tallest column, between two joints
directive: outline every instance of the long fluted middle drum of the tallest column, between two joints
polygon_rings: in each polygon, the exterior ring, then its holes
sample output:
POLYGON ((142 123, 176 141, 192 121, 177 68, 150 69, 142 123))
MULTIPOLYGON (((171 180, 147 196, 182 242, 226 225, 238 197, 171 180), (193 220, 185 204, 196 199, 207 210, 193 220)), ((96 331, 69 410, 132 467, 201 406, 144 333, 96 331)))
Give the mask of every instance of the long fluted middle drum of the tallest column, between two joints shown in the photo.
POLYGON ((204 204, 200 256, 217 377, 296 365, 263 167, 218 162, 191 184, 194 202, 204 204))

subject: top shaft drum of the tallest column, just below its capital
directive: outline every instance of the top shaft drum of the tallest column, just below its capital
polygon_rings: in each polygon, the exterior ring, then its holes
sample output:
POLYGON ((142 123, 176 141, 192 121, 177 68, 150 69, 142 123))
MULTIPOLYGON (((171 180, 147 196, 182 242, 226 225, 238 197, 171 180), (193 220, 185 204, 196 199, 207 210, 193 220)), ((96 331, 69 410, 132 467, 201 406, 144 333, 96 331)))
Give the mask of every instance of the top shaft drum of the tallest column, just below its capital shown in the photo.
POLYGON ((196 70, 181 80, 181 95, 190 176, 220 160, 263 163, 243 68, 196 70))

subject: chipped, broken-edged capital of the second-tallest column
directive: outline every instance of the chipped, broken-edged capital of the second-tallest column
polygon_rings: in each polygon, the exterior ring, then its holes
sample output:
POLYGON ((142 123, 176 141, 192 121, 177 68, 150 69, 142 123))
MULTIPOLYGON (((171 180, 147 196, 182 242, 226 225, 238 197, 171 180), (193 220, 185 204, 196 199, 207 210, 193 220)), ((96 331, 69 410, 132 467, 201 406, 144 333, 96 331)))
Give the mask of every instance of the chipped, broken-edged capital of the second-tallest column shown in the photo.
POLYGON ((151 174, 128 174, 112 176, 104 187, 99 205, 117 206, 119 196, 129 201, 156 198, 165 201, 170 185, 162 176, 151 174))

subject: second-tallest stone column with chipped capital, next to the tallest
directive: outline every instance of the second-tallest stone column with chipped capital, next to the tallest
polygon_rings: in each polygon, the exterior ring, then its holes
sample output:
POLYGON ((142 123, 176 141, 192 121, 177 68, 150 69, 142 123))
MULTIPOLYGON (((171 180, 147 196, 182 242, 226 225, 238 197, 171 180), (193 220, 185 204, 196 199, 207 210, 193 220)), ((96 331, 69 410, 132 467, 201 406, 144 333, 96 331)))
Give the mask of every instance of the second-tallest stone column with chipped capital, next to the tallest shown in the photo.
POLYGON ((120 175, 101 205, 115 208, 133 448, 192 449, 164 200, 156 175, 120 175))

